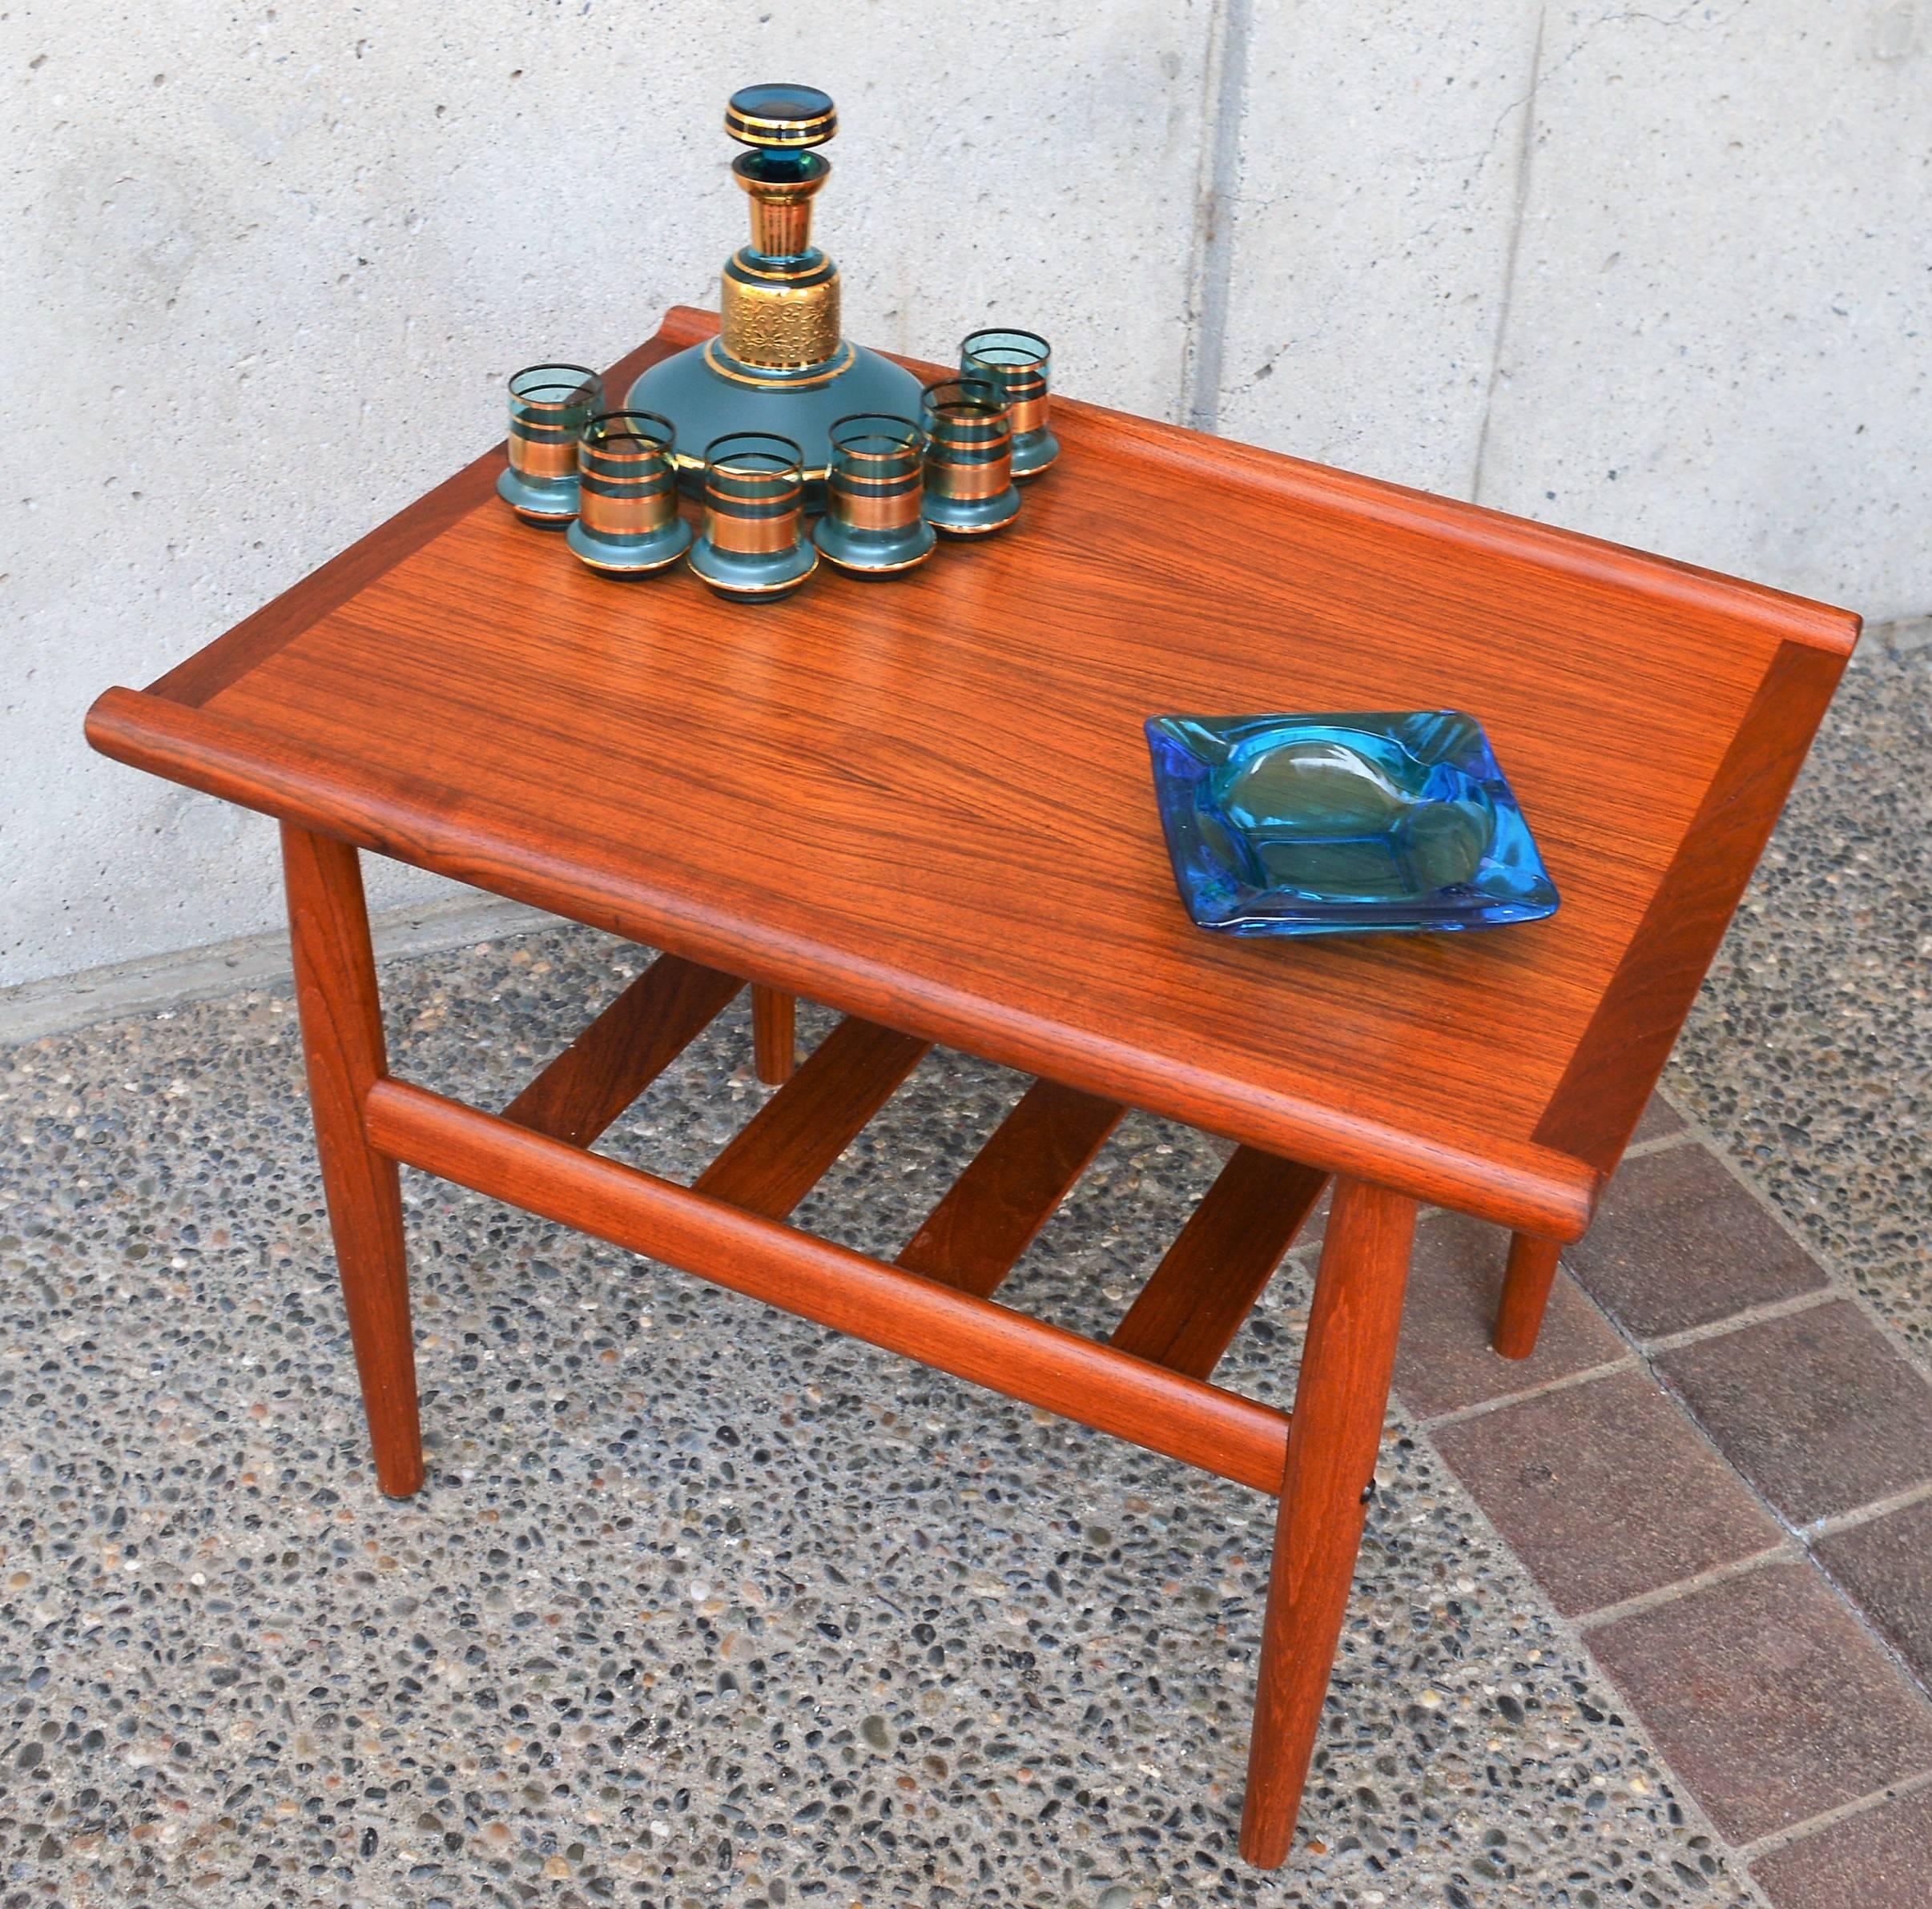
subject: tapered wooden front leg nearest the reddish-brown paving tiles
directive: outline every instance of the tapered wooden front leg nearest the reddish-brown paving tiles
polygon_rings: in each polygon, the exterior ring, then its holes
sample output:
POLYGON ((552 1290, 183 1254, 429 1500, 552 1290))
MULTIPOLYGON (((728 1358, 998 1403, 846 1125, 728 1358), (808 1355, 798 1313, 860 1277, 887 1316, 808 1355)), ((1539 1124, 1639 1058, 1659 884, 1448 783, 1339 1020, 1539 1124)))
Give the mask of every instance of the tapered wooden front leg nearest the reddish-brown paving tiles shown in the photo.
POLYGON ((1248 1741, 1240 1853, 1260 1868, 1275 1868, 1294 1836, 1368 1519, 1414 1231, 1414 1200, 1335 1182, 1289 1424, 1248 1741))

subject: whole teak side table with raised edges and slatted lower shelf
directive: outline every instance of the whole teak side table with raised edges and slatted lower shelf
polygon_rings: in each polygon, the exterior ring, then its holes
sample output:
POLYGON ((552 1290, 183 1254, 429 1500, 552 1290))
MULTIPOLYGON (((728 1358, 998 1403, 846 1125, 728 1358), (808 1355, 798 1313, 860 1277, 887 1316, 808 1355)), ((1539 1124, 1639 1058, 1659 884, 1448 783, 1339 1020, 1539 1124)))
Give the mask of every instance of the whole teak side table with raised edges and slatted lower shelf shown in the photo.
MULTIPOLYGON (((672 311, 607 388, 715 323, 672 311)), ((769 609, 593 576, 491 495, 491 452, 149 690, 108 690, 87 734, 282 823, 384 1492, 423 1482, 398 1163, 1273 1492, 1240 1834, 1271 1866, 1374 1490, 1416 1204, 1513 1231, 1497 1349, 1524 1356, 1859 622, 1115 412, 1061 404, 1055 425, 1061 468, 1012 533, 769 609), (1188 924, 1144 717, 1434 707, 1486 725, 1553 920, 1188 924), (363 848, 665 953, 502 1113, 462 1105, 388 1072, 363 848), (784 1084, 696 1184, 591 1152, 746 982, 784 1084), (792 1072, 796 995, 846 1018, 792 1072), (1037 1078, 896 1264, 786 1225, 935 1041, 1037 1078), (1101 1345, 993 1293, 1126 1107, 1236 1148, 1101 1345), (1211 1376, 1331 1177, 1291 1416, 1211 1376)))

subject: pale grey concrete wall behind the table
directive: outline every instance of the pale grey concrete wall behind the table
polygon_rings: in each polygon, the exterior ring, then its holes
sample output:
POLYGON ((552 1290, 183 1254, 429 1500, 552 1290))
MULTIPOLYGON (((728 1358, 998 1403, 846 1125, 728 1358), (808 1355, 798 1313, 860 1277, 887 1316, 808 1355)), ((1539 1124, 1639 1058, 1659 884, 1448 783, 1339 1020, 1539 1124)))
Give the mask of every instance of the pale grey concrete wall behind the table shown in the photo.
POLYGON ((269 825, 87 701, 473 456, 518 363, 711 301, 748 77, 838 99, 867 342, 1034 323, 1078 396, 1922 613, 1928 14, 15 0, 0 983, 274 920, 269 825))

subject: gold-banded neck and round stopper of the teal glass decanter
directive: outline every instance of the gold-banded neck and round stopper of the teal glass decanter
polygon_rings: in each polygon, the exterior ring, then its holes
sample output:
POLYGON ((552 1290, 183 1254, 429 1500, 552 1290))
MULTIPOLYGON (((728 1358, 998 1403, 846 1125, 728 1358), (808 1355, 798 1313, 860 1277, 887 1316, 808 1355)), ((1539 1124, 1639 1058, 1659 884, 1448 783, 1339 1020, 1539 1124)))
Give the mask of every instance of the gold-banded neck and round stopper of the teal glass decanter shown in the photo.
POLYGON ((726 357, 759 371, 804 371, 838 356, 838 267, 811 243, 811 201, 831 178, 813 147, 838 131, 817 87, 740 87, 724 131, 750 147, 732 178, 752 201, 752 243, 724 265, 726 357))

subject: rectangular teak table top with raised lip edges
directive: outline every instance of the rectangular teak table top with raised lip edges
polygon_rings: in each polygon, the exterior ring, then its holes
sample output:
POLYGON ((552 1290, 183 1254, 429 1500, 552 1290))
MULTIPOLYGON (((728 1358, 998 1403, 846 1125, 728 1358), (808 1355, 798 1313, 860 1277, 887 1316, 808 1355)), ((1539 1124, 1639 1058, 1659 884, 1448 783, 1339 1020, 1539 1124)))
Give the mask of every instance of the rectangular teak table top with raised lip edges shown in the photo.
MULTIPOLYGON (((611 388, 713 327, 670 313, 611 388)), ((1009 533, 771 607, 591 574, 495 499, 493 452, 89 732, 732 974, 1580 1233, 1857 618, 1115 412, 1055 429, 1009 533), (1190 926, 1146 717, 1432 707, 1488 728, 1551 920, 1190 926)))

